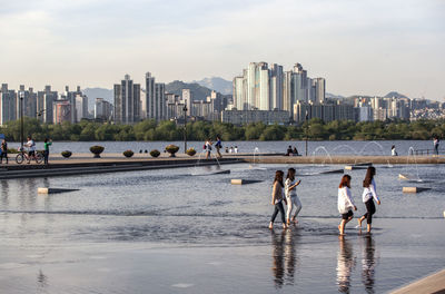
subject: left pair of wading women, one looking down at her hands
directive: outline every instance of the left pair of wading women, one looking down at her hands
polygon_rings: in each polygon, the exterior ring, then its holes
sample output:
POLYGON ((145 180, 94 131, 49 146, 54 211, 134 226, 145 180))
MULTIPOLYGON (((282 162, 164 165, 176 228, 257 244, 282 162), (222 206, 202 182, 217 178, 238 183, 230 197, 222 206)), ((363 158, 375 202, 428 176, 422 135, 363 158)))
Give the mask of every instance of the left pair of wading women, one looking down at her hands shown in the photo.
POLYGON ((274 205, 274 214, 271 215, 269 228, 274 228, 274 222, 278 213, 281 215, 283 228, 287 228, 290 223, 297 224, 298 213, 301 210, 301 202, 297 196, 296 187, 301 180, 296 180, 295 168, 287 170, 286 180, 284 182, 283 170, 275 173, 274 187, 271 193, 271 205, 274 205), (285 208, 283 203, 287 206, 287 213, 285 215, 285 208))

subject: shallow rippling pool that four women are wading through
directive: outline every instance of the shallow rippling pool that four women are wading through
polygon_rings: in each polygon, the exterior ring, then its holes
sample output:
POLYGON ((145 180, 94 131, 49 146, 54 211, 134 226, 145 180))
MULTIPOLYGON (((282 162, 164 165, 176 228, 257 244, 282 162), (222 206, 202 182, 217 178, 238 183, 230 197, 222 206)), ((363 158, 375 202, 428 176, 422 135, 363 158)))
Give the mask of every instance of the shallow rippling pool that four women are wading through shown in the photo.
MULTIPOLYGON (((336 209, 342 175, 320 174, 343 166, 296 166, 299 224, 267 228, 274 173, 288 167, 1 180, 0 292, 383 293, 444 266, 443 166, 377 166, 375 229, 359 234, 354 219, 345 238, 336 209), (234 186, 231 178, 259 183, 234 186), (38 195, 42 186, 79 190, 38 195), (403 194, 403 186, 429 189, 403 194)), ((365 170, 348 173, 359 216, 365 170)))

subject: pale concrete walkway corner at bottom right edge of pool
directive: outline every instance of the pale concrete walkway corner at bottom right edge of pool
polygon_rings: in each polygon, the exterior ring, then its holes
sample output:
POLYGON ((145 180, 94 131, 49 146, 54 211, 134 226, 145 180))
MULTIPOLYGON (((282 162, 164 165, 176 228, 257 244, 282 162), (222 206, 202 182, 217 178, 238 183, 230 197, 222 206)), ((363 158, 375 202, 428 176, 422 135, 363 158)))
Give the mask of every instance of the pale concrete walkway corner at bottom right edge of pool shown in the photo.
POLYGON ((419 293, 445 293, 445 270, 438 273, 418 280, 409 285, 403 286, 396 291, 390 292, 392 294, 419 294, 419 293))

